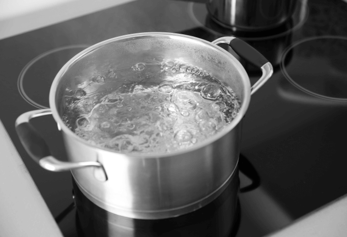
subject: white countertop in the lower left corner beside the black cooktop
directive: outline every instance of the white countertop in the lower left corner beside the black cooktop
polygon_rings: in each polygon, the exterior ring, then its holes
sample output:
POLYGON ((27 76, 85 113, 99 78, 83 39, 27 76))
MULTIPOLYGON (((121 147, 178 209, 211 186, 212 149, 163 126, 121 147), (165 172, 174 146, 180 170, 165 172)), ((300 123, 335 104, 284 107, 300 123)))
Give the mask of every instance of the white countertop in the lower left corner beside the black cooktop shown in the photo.
POLYGON ((0 121, 0 237, 62 237, 0 121))

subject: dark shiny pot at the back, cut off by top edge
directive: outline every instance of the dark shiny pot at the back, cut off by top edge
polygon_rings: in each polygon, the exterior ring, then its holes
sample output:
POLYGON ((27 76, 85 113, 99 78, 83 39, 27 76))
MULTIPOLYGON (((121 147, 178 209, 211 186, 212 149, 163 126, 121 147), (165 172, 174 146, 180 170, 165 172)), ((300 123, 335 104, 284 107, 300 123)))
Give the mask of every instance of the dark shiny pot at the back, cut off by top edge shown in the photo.
POLYGON ((285 23, 298 0, 209 0, 212 19, 239 30, 266 30, 285 23))

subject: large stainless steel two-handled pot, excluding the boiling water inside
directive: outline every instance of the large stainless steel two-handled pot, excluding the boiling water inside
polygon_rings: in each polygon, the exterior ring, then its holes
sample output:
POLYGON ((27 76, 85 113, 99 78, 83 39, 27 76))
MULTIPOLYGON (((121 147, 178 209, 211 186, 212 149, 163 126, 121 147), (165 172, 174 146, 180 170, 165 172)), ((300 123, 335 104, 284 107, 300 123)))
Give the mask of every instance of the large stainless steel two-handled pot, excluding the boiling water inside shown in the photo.
MULTIPOLYGON (((71 170, 82 193, 99 207, 129 218, 162 219, 194 211, 214 200, 237 170, 241 119, 250 96, 271 77, 271 64, 234 37, 208 41, 174 33, 138 33, 93 45, 68 61, 50 91, 51 109, 26 112, 16 131, 29 155, 51 171, 71 170), (251 87, 241 64, 219 44, 229 44, 241 57, 261 68, 251 87), (194 146, 172 153, 121 154, 93 146, 75 135, 62 120, 66 91, 76 90, 116 65, 130 67, 148 60, 184 59, 231 86, 241 100, 236 118, 223 131, 194 146), (53 114, 62 132, 68 161, 54 158, 30 119, 53 114)), ((235 190, 237 192, 237 190, 235 190)))

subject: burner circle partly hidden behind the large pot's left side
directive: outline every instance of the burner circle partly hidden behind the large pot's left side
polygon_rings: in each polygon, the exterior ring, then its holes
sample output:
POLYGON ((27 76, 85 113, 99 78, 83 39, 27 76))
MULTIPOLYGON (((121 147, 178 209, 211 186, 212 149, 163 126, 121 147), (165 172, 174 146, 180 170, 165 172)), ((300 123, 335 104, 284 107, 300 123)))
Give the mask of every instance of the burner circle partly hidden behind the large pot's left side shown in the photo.
POLYGON ((53 80, 62 66, 90 45, 68 45, 49 50, 32 59, 19 74, 20 95, 32 106, 49 108, 49 93, 53 80))

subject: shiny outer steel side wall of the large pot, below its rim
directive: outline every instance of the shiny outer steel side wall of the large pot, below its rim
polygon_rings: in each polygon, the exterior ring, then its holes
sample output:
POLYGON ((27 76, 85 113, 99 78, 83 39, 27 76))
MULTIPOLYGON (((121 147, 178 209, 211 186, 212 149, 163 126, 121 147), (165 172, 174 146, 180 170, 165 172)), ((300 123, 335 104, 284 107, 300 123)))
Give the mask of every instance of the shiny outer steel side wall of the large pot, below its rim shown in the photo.
POLYGON ((82 192, 101 208, 117 215, 159 219, 182 215, 216 198, 234 175, 240 125, 223 138, 188 153, 138 158, 131 154, 95 151, 64 134, 69 158, 98 160, 106 182, 93 176, 93 168, 72 170, 82 192))

